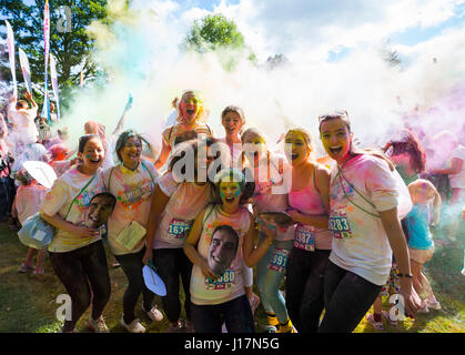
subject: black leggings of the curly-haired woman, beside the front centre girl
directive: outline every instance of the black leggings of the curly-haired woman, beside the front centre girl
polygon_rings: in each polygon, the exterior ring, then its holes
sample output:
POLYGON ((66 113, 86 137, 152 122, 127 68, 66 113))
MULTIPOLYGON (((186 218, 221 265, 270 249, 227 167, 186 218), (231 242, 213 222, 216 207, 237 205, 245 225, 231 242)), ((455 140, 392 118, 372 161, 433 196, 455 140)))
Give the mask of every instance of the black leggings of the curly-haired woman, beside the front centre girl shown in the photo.
POLYGON ((191 321, 191 273, 192 263, 183 248, 153 250, 153 264, 166 286, 166 295, 161 297, 163 311, 171 323, 176 323, 181 315, 180 276, 184 288, 185 316, 191 321))

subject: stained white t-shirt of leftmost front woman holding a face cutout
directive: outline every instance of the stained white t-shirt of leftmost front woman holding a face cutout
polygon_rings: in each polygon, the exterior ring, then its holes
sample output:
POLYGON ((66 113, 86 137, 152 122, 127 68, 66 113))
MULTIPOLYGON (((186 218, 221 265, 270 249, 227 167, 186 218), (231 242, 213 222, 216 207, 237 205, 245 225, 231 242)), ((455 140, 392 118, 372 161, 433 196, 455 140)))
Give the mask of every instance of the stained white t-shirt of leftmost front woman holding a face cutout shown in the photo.
MULTIPOLYGON (((58 213, 64 219, 71 203, 74 197, 77 197, 68 214, 67 221, 75 225, 82 224, 85 222, 90 201, 95 194, 104 191, 101 170, 99 170, 92 182, 81 192, 91 179, 91 175, 79 172, 77 168, 69 170, 54 181, 52 189, 47 193, 42 201, 40 206, 41 211, 48 215, 58 213)), ((100 239, 100 235, 78 237, 63 230, 57 229, 53 241, 49 244, 49 252, 71 252, 94 243, 100 239)))

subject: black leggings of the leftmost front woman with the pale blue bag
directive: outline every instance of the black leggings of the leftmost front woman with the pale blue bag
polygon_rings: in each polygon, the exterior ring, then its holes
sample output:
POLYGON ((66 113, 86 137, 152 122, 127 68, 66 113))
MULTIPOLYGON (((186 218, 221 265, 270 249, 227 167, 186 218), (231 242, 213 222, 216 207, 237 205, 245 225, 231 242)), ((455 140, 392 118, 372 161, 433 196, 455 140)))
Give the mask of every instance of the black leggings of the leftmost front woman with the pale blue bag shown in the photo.
POLYGON ((111 293, 102 241, 71 252, 49 254, 54 273, 71 297, 71 321, 64 321, 63 331, 74 329, 91 302, 92 318, 100 317, 111 293))

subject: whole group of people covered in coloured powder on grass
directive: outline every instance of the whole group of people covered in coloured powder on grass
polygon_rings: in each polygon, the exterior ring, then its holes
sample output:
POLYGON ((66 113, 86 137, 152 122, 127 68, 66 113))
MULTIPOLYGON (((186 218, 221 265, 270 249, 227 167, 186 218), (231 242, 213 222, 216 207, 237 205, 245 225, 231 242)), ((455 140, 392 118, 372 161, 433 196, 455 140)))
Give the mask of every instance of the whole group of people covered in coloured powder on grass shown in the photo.
MULTIPOLYGON (((175 122, 163 131, 160 154, 123 129, 124 113, 112 138, 102 124, 87 122, 74 160, 62 143, 50 148, 60 155, 54 163, 50 150, 44 159, 28 155, 60 168, 50 190, 20 166, 13 172, 21 181, 13 215, 22 223, 39 211, 55 227, 48 255, 72 301, 62 332, 74 332, 90 305, 89 327, 109 332, 104 240, 128 278, 121 325, 131 333, 145 332, 135 316, 141 294, 143 313, 155 322, 164 317, 144 283, 148 264, 165 284, 168 332, 253 333, 259 302, 273 333, 352 332, 365 315, 381 329, 383 314, 388 317, 381 297, 390 293, 403 297, 411 317, 441 308, 422 267, 434 253, 429 224, 438 223, 442 199, 419 179, 426 158, 414 132, 384 151, 361 149, 347 112, 331 112, 314 121, 327 154, 316 159, 305 128, 285 132, 285 149, 276 152, 259 129, 244 130, 239 106, 222 111, 225 134, 215 138, 196 91, 173 104, 175 122), (27 186, 34 186, 36 200, 27 186), (131 233, 135 229, 143 232, 131 233)), ((28 110, 17 104, 16 114, 28 110)), ((40 144, 34 139, 27 144, 40 144)), ((446 172, 457 176, 452 203, 461 210, 464 150, 457 144, 446 172)), ((33 252, 20 271, 34 268, 33 252)), ((36 273, 43 272, 43 257, 40 251, 36 273)))

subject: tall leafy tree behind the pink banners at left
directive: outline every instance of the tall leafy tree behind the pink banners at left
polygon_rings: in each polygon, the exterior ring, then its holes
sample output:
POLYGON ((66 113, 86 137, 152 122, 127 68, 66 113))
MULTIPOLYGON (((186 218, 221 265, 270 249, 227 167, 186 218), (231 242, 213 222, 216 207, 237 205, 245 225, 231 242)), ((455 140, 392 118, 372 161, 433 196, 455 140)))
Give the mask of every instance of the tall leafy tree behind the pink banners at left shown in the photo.
MULTIPOLYGON (((46 1, 34 0, 33 3, 28 2, 30 4, 23 1, 6 1, 8 6, 0 10, 2 20, 8 20, 13 29, 17 51, 18 48, 21 48, 28 55, 32 82, 43 83, 43 8, 46 1)), ((81 67, 84 79, 97 77, 98 70, 90 55, 94 40, 88 36, 85 28, 94 20, 109 21, 105 6, 107 0, 49 1, 50 53, 57 59, 60 91, 67 91, 79 84, 80 70, 78 69, 81 67)), ((0 28, 1 36, 6 39, 4 21, 1 22, 3 22, 1 23, 3 28, 0 28)), ((8 55, 8 53, 3 55, 8 55)), ((22 74, 18 55, 16 59, 18 63, 17 79, 20 81, 22 74)), ((42 100, 43 98, 38 99, 38 103, 42 100)))

